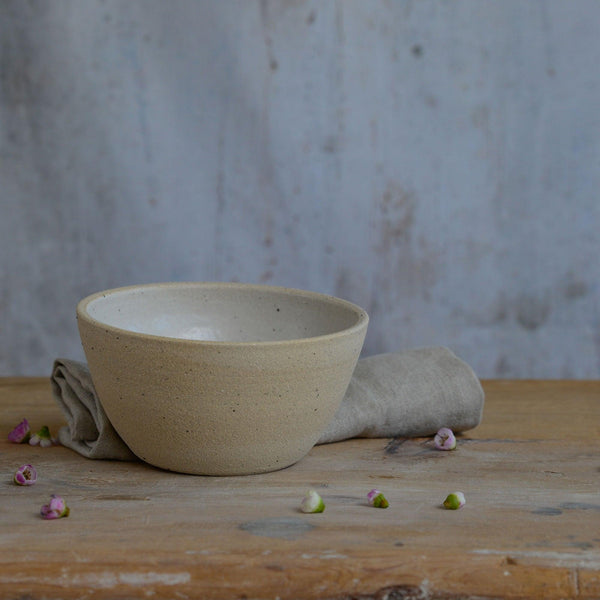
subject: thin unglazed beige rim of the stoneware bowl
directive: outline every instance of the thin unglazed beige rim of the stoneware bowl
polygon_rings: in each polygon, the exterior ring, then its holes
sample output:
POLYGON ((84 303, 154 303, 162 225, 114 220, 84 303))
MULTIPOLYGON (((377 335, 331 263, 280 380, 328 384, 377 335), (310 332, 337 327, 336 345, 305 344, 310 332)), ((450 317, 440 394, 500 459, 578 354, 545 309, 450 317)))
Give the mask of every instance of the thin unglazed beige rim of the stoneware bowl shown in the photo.
POLYGON ((176 342, 180 345, 192 345, 192 346, 243 346, 243 347, 252 347, 252 346, 260 346, 260 347, 271 347, 271 346, 282 346, 286 344, 300 344, 300 343, 311 343, 316 341, 326 341, 327 339, 336 339, 341 337, 346 337, 352 335, 353 333, 366 328, 369 324, 369 315, 367 311, 358 306, 358 304, 354 304, 349 300, 344 300, 342 298, 338 298, 337 296, 332 296, 329 294, 324 294, 322 292, 314 292, 311 290, 303 290, 299 288, 285 287, 285 286, 276 286, 276 285, 266 285, 266 284, 258 284, 258 283, 243 283, 243 282, 221 282, 221 281, 169 281, 169 282, 156 282, 156 283, 141 283, 141 284, 133 284, 126 285, 120 287, 109 288, 105 290, 101 290, 99 292, 94 292, 84 298, 82 298, 76 307, 76 316, 77 320, 87 321, 89 324, 94 325, 96 327, 100 327, 107 332, 113 332, 115 334, 122 334, 132 336, 134 338, 146 339, 146 340, 157 340, 157 341, 168 341, 168 342, 176 342), (98 298, 106 297, 108 295, 122 293, 127 291, 133 291, 137 289, 152 289, 152 288, 187 288, 187 287, 205 287, 205 288, 231 288, 231 289, 244 289, 244 290, 255 290, 255 291, 273 291, 284 294, 291 294, 295 296, 303 296, 306 298, 310 298, 313 300, 320 300, 330 304, 338 304, 340 306, 344 306, 345 308, 350 309, 356 314, 357 320, 356 323, 351 325, 350 327, 346 327, 345 329, 340 329, 339 331, 334 331, 332 333, 326 333, 323 335, 316 335, 310 337, 302 337, 302 338, 289 338, 285 340, 257 340, 257 341, 234 341, 234 340, 194 340, 188 338, 179 338, 172 337, 166 335, 156 335, 153 333, 142 333, 139 331, 132 331, 130 329, 124 329, 122 327, 116 327, 115 325, 110 325, 108 323, 104 323, 98 319, 92 317, 88 311, 87 307, 94 300, 98 298))

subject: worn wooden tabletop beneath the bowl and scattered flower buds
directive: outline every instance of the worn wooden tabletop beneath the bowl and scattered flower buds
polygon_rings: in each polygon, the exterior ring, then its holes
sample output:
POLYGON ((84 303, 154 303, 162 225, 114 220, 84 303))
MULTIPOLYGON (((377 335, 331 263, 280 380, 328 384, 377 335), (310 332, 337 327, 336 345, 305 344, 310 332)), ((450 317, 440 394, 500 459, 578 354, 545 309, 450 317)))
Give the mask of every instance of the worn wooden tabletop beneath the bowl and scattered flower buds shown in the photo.
POLYGON ((487 381, 482 425, 317 446, 211 478, 6 441, 63 423, 44 379, 0 379, 1 598, 600 598, 600 382, 487 381), (12 484, 23 463, 31 487, 12 484), (385 492, 386 510, 366 504, 385 492), (322 514, 298 507, 308 488, 322 514), (448 492, 467 504, 444 510, 448 492), (38 513, 51 493, 66 519, 38 513))

